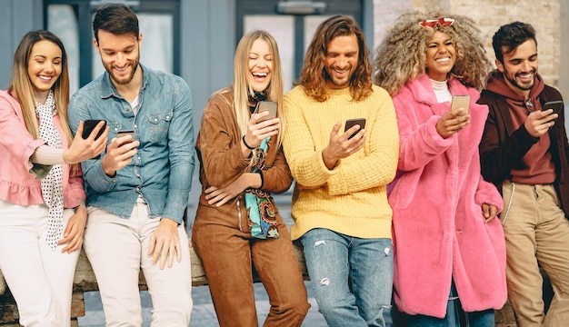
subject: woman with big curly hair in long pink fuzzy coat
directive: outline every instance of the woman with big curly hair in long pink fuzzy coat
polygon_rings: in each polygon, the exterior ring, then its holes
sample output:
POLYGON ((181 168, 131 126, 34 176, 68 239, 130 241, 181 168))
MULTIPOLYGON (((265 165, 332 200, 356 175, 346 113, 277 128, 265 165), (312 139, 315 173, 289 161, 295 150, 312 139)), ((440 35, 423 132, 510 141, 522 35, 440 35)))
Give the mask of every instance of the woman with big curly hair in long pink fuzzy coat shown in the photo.
POLYGON ((506 301, 503 202, 480 173, 488 108, 476 101, 492 67, 478 35, 464 15, 411 11, 376 51, 374 82, 392 95, 400 134, 388 197, 394 300, 409 326, 494 326, 506 301), (453 95, 470 104, 451 109, 453 95))

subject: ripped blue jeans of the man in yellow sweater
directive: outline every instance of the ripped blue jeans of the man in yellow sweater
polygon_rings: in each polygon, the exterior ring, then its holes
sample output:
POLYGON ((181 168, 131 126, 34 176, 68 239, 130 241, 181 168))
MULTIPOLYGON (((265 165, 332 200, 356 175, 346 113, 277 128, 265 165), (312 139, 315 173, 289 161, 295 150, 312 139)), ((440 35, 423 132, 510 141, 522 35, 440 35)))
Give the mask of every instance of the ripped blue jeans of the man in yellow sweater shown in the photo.
POLYGON ((394 279, 391 240, 317 228, 304 233, 301 242, 318 311, 328 325, 384 327, 394 279))

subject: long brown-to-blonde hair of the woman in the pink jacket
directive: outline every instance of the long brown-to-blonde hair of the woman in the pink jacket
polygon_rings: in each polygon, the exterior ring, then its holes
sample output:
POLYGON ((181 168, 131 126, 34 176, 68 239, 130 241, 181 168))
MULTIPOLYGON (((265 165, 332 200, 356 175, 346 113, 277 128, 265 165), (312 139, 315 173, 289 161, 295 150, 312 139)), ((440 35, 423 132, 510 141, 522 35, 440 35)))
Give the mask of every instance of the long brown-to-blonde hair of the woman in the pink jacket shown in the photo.
POLYGON ((51 32, 38 30, 28 32, 18 45, 14 54, 14 68, 12 70, 12 78, 8 86, 8 92, 15 97, 22 107, 24 115, 25 128, 34 136, 39 138, 39 124, 35 114, 35 89, 30 76, 27 72, 32 47, 39 41, 49 41, 57 45, 62 55, 62 70, 59 78, 52 86, 55 97, 55 111, 59 115, 65 137, 69 144, 73 140, 73 134, 69 128, 67 120, 67 105, 69 104, 69 75, 67 73, 67 54, 65 53, 64 44, 59 37, 51 32))

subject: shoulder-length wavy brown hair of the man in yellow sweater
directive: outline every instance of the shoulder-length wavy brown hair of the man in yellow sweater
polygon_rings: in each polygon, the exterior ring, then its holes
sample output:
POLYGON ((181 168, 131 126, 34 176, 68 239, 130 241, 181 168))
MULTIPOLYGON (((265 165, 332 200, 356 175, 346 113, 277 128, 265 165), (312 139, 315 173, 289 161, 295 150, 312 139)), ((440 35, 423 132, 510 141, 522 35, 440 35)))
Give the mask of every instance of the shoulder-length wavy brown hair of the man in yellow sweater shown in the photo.
POLYGON ((327 76, 325 60, 328 43, 336 36, 355 35, 357 37, 358 63, 350 80, 350 94, 355 101, 363 100, 372 94, 372 64, 369 50, 365 46, 364 32, 354 19, 344 15, 334 15, 316 28, 312 42, 306 50, 300 78, 295 85, 304 86, 304 92, 316 101, 324 102, 330 96, 326 87, 327 76))

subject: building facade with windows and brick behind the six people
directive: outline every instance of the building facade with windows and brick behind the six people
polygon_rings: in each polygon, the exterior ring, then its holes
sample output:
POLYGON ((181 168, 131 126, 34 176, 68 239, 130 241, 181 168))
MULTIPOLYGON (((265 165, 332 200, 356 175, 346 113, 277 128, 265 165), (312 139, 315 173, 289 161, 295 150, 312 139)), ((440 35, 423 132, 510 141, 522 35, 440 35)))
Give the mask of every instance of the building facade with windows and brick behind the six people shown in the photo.
MULTIPOLYGON (((0 88, 9 82, 12 56, 32 29, 49 29, 64 39, 70 55, 72 92, 103 72, 92 43, 91 17, 106 0, 0 0, 0 88)), ((113 1, 110 1, 113 2, 113 1)), ((520 20, 537 31, 540 73, 569 99, 569 1, 514 0, 115 0, 131 5, 141 20, 141 62, 179 74, 194 94, 195 124, 209 94, 230 84, 235 46, 245 32, 264 28, 275 35, 290 87, 300 70, 315 26, 329 15, 352 15, 375 47, 404 10, 439 6, 474 18, 494 60, 492 35, 520 20)), ((197 127, 197 126, 196 126, 197 127)))

